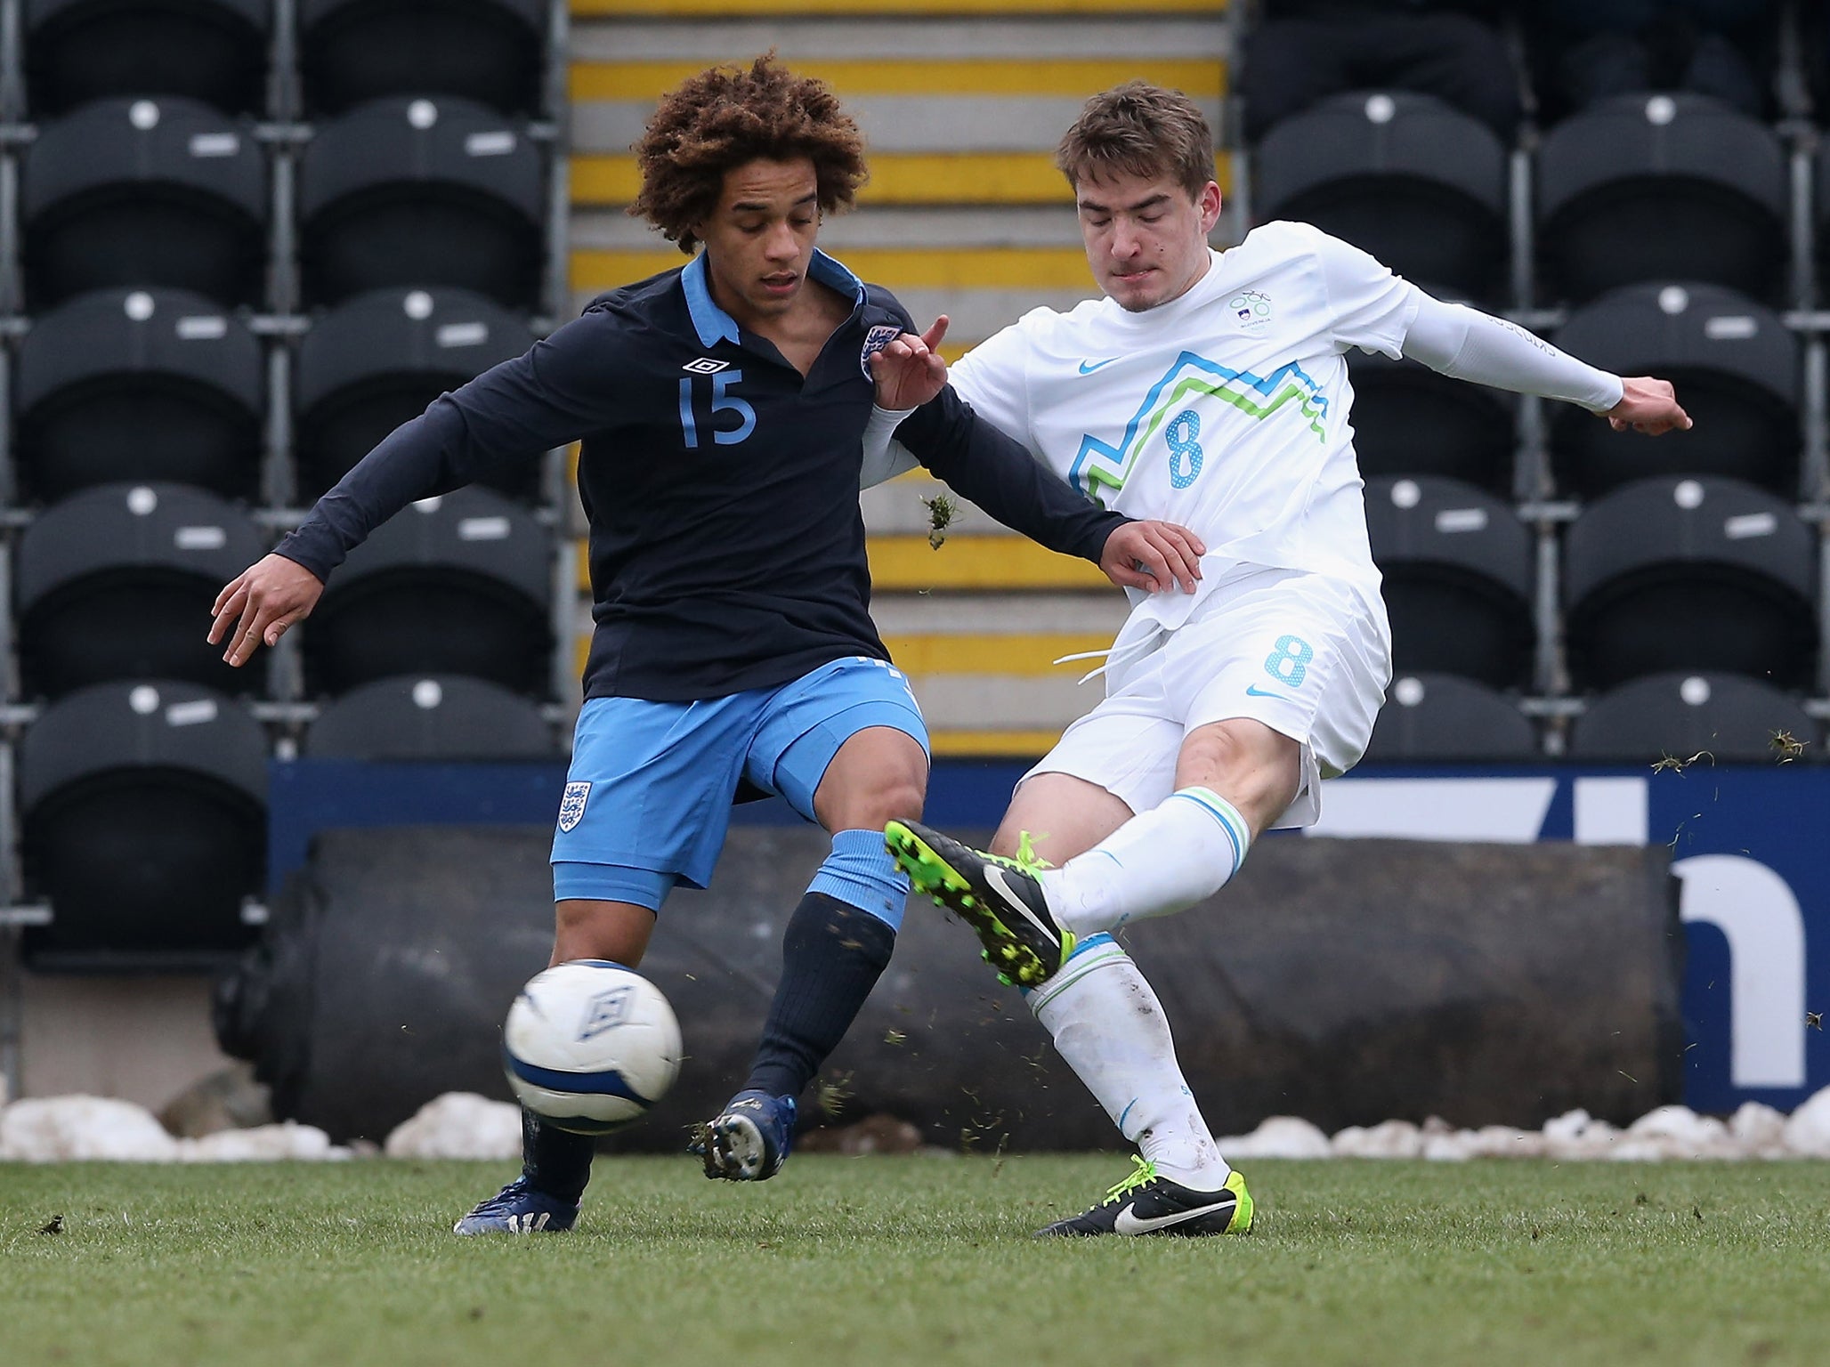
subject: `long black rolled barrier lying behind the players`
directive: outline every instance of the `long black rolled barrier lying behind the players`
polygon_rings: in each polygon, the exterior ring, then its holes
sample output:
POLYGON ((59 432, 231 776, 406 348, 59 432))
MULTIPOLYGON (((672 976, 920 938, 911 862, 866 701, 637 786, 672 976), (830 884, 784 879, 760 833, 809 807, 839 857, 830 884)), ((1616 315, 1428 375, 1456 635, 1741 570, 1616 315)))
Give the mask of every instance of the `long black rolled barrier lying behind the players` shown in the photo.
MULTIPOLYGON (((827 845, 811 827, 736 827, 712 888, 668 902, 642 972, 686 1060, 609 1144, 677 1153, 741 1083, 783 924, 827 845)), ((344 1140, 382 1140, 445 1091, 507 1098, 501 1019, 553 946, 549 847, 545 829, 322 833, 221 979, 218 1039, 254 1061, 278 1114, 344 1140)), ((1266 840, 1215 899, 1125 942, 1215 1133, 1268 1114, 1537 1125, 1572 1107, 1620 1124, 1680 1093, 1669 860, 1663 845, 1266 840)), ((924 900, 824 1076, 844 1080, 838 1118, 891 1113, 946 1147, 1122 1146, 1017 992, 924 900)), ((811 1091, 803 1107, 825 1118, 811 1091)))

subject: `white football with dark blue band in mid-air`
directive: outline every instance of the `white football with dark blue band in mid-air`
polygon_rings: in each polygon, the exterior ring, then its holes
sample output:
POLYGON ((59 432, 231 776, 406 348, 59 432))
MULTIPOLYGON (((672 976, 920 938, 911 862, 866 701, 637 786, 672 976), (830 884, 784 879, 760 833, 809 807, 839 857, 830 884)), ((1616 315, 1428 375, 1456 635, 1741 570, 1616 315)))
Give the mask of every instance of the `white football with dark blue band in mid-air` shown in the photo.
POLYGON ((534 1114, 608 1135, 666 1096, 681 1071, 681 1027, 635 970, 575 959, 536 974, 509 1006, 501 1067, 534 1114))

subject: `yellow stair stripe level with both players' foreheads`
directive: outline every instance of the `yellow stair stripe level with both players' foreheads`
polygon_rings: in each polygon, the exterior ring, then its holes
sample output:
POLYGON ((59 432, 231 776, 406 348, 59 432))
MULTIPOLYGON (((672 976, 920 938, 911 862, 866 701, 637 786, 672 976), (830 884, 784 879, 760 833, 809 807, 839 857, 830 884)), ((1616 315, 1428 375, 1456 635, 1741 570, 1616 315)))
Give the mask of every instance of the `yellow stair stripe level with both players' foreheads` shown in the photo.
MULTIPOLYGON (((1232 157, 1213 159, 1213 178, 1232 194, 1232 157)), ((586 205, 633 203, 642 174, 630 156, 571 159, 571 201, 586 205)), ((1067 181, 1049 152, 880 152, 871 157, 871 179, 860 205, 1061 205, 1067 181)))

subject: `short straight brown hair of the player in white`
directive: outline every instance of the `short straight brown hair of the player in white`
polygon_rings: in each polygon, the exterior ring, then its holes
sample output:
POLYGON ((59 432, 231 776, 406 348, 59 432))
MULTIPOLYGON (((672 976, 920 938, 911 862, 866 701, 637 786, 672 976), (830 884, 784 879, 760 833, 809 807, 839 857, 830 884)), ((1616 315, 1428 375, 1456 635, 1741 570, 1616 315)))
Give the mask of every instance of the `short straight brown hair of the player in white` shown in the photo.
POLYGON ((1074 188, 1118 170, 1144 179, 1169 176, 1193 199, 1213 179, 1213 132, 1180 90, 1127 81, 1082 106, 1054 165, 1074 188))

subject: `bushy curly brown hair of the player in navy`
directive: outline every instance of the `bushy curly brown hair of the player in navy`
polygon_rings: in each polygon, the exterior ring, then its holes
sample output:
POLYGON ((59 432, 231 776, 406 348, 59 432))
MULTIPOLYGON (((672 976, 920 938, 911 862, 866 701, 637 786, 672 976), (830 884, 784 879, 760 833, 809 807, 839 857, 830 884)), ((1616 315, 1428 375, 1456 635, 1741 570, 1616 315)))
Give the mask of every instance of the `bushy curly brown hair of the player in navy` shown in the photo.
POLYGON ((869 174, 864 135, 838 97, 769 51, 748 71, 714 66, 661 99, 635 143, 642 192, 630 212, 690 253, 699 242, 694 225, 717 207, 725 172, 758 157, 811 157, 822 214, 851 209, 869 174))

